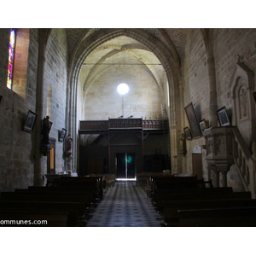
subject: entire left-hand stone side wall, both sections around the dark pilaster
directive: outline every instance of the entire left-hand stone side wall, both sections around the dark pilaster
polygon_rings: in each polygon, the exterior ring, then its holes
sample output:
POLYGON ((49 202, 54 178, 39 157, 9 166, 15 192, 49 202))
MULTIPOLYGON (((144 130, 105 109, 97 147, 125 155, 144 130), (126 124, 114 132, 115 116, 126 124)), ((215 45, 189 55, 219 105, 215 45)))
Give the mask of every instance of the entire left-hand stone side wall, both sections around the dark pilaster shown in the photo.
MULTIPOLYGON (((0 31, 0 191, 26 188, 33 184, 36 152, 35 129, 23 131, 28 110, 37 113, 38 29, 29 31, 26 95, 20 96, 6 86, 9 51, 9 29, 0 31)), ((26 61, 26 60, 25 60, 26 61)), ((53 122, 49 137, 56 139, 55 170, 64 168, 63 143, 58 132, 65 127, 67 90, 67 38, 63 29, 53 29, 46 46, 44 72, 44 109, 53 122), (51 97, 49 99, 49 87, 51 97), (47 108, 50 106, 51 108, 47 108), (48 109, 48 110, 47 110, 48 109)), ((41 156, 47 172, 46 157, 41 156)))

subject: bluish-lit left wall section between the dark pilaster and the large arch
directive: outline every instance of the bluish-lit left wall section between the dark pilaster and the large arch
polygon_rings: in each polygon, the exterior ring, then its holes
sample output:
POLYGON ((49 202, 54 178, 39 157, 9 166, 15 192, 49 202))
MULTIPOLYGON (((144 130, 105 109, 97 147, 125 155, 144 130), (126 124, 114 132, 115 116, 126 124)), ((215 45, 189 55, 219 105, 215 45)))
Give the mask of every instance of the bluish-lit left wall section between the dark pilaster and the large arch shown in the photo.
MULTIPOLYGON (((55 143, 55 172, 63 171, 63 143, 59 142, 59 132, 66 128, 67 95, 67 38, 65 29, 53 29, 46 46, 44 69, 44 113, 53 122, 49 137, 55 143)), ((68 133, 69 131, 67 131, 68 133)), ((44 158, 46 158, 44 156, 44 158)), ((45 170, 46 173, 46 170, 45 170)))

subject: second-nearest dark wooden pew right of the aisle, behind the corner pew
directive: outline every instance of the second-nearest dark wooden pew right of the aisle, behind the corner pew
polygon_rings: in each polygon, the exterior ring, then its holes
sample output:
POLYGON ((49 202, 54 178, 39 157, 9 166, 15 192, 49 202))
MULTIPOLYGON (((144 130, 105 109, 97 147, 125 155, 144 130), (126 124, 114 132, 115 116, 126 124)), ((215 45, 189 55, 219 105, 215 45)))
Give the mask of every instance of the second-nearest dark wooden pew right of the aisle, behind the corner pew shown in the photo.
POLYGON ((201 201, 165 201, 164 219, 166 226, 179 226, 178 210, 214 209, 230 207, 256 207, 253 199, 219 199, 201 201))

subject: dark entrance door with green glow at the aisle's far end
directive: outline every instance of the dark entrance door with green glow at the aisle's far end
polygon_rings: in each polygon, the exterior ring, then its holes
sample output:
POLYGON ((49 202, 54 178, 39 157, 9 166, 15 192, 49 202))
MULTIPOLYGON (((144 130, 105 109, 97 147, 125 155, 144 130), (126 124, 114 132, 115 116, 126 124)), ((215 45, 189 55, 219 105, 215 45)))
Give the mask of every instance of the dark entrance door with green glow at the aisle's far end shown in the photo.
POLYGON ((116 154, 116 177, 117 178, 135 178, 136 172, 136 154, 135 153, 117 153, 116 154))

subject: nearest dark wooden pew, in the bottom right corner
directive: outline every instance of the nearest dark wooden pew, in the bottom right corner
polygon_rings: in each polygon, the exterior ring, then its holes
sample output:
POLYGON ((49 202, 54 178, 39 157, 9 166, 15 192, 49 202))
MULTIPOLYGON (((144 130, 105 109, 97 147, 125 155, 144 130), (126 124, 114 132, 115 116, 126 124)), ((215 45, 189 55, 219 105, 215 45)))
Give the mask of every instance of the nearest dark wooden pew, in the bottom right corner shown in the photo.
POLYGON ((180 227, 256 227, 256 207, 178 210, 180 227))

